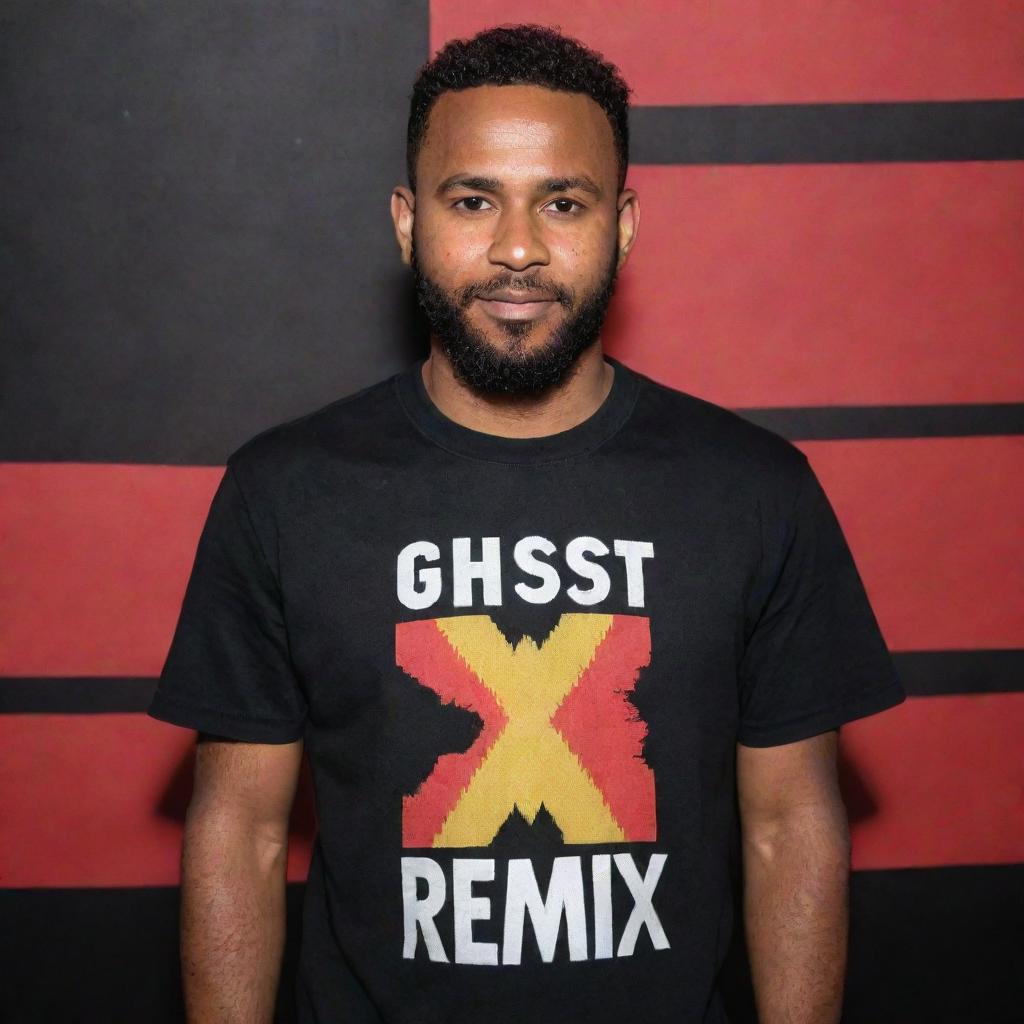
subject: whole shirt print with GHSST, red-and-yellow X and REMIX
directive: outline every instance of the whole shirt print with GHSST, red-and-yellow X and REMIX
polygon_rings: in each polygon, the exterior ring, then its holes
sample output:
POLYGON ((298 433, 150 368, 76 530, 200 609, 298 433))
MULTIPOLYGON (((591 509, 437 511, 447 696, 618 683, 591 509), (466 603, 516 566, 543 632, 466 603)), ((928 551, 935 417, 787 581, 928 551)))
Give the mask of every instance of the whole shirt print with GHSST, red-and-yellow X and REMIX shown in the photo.
POLYGON ((399 622, 395 665, 410 686, 477 723, 401 797, 402 957, 516 967, 669 949, 655 907, 668 854, 581 849, 657 838, 647 722, 634 701, 650 621, 554 609, 510 617, 506 607, 562 598, 642 609, 653 544, 457 537, 449 550, 414 541, 396 560, 406 608, 450 600, 466 610, 399 622), (566 854, 551 857, 551 844, 566 854))

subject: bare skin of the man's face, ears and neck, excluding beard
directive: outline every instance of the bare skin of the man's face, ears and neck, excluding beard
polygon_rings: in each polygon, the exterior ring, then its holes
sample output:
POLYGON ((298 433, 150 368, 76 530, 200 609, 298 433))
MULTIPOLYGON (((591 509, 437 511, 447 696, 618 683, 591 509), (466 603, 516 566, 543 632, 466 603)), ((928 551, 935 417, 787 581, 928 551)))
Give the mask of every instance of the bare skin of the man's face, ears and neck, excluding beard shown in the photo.
MULTIPOLYGON (((444 93, 430 112, 416 177, 415 195, 402 185, 391 195, 395 237, 408 263, 415 224, 424 271, 450 291, 512 271, 585 292, 600 280, 612 249, 625 264, 640 222, 636 193, 618 190, 608 119, 579 93, 528 85, 444 93)), ((523 310, 501 305, 477 300, 468 315, 489 343, 508 347, 498 321, 523 310)), ((554 302, 525 312, 532 325, 527 350, 567 315, 554 302)), ((423 378, 450 419, 486 433, 536 437, 587 419, 613 373, 598 343, 557 390, 530 399, 481 395, 456 379, 432 338, 423 378)))

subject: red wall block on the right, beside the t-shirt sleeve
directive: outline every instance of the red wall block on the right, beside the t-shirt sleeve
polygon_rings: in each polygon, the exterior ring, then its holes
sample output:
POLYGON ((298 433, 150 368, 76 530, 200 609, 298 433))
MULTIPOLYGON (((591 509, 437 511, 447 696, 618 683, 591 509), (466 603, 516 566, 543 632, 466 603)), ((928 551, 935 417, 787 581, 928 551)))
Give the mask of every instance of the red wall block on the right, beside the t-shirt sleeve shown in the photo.
POLYGON ((1024 437, 800 447, 892 648, 1024 647, 1024 437))

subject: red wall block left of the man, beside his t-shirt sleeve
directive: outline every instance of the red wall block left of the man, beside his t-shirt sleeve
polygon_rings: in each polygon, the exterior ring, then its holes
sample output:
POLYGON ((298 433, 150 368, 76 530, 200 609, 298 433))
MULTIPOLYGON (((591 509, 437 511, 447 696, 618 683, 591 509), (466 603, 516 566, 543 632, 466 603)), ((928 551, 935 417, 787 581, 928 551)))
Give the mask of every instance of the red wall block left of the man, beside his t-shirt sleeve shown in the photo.
POLYGON ((156 676, 222 473, 0 464, 0 676, 156 676))

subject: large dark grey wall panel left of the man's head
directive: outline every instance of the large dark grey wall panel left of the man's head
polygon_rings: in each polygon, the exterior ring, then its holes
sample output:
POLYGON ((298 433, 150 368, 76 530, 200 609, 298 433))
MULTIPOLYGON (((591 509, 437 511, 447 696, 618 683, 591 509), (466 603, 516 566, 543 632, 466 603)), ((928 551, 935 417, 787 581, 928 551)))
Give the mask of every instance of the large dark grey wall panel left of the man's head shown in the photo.
POLYGON ((0 37, 0 459, 218 464, 408 362, 426 3, 17 3, 0 37))

